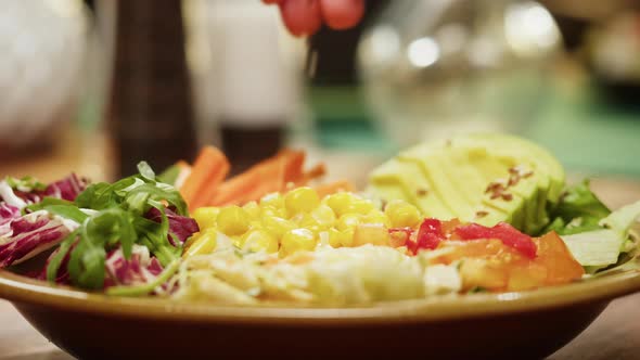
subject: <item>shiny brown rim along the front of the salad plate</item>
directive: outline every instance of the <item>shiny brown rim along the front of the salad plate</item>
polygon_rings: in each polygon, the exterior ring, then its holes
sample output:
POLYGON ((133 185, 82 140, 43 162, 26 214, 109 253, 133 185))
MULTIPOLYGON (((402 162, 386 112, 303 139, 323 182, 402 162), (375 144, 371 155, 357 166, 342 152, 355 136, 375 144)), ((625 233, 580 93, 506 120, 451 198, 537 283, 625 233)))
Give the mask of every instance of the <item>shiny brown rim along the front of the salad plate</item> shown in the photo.
POLYGON ((91 294, 0 270, 0 297, 47 308, 133 319, 280 325, 368 325, 437 322, 532 312, 611 300, 640 291, 640 270, 627 270, 567 285, 502 294, 400 300, 368 307, 225 306, 162 298, 91 294))

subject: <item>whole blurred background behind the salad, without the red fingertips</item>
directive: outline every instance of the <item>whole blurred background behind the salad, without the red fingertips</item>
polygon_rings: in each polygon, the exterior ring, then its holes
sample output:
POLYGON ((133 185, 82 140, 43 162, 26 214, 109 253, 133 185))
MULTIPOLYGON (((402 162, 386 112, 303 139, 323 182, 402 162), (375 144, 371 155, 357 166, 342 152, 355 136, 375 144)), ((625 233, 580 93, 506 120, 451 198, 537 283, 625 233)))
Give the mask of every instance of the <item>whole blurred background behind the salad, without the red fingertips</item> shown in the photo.
POLYGON ((640 177, 640 3, 368 0, 286 33, 259 0, 4 1, 0 176, 113 180, 221 146, 282 146, 362 183, 399 149, 517 133, 575 175, 640 177))

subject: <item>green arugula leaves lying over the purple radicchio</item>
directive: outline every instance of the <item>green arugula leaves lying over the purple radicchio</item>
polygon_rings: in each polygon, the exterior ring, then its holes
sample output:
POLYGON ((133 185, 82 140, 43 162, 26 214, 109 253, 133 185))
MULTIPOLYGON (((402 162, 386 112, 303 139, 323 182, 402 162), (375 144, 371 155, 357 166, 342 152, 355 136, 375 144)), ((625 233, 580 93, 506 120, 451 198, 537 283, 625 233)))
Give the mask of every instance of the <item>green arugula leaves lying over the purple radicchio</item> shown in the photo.
POLYGON ((51 259, 47 268, 49 281, 55 280, 69 252, 67 268, 72 283, 90 290, 104 286, 106 253, 118 246, 125 259, 130 259, 133 245, 144 245, 164 267, 180 258, 182 243, 169 240, 165 209, 168 206, 185 216, 187 204, 174 187, 156 181, 149 164, 142 162, 138 169, 139 175, 114 183, 89 185, 74 203, 46 200, 29 207, 31 211, 44 209, 80 223, 74 236, 65 239, 51 259), (159 219, 156 216, 155 221, 146 218, 152 208, 159 211, 159 219), (89 216, 81 209, 94 211, 89 216))

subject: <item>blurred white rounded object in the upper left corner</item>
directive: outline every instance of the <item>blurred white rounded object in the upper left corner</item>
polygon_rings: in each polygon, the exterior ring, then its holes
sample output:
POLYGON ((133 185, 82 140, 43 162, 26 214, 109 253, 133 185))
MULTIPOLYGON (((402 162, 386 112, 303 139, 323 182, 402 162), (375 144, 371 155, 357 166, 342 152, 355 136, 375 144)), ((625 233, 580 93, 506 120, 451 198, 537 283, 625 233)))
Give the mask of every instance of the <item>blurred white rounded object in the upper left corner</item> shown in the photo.
POLYGON ((73 114, 86 30, 80 0, 2 1, 0 151, 50 140, 73 114))

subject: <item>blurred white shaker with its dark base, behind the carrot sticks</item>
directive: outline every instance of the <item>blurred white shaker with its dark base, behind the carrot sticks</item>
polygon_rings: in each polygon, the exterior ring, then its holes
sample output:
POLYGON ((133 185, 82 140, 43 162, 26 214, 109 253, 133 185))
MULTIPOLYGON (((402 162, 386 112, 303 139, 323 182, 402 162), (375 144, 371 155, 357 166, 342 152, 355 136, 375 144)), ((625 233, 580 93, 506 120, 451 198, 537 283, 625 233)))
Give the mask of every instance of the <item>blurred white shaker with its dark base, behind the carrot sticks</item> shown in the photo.
POLYGON ((277 9, 255 0, 209 1, 217 123, 239 172, 278 152, 297 111, 300 76, 284 61, 277 9))

